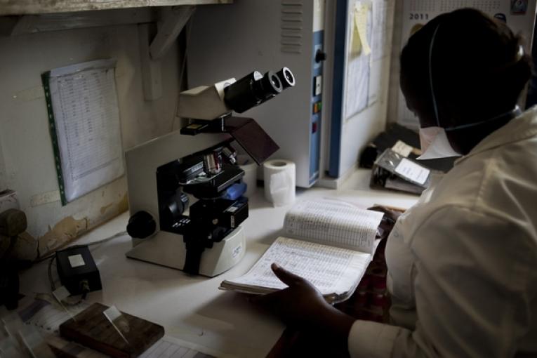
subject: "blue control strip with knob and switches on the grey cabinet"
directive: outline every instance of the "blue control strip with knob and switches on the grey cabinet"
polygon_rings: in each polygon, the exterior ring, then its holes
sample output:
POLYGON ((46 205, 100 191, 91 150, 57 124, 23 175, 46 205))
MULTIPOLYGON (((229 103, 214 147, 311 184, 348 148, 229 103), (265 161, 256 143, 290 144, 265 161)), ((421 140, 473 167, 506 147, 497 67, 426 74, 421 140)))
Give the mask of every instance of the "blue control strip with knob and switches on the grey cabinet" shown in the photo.
MULTIPOLYGON (((315 62, 317 50, 323 50, 324 31, 313 33, 313 53, 312 53, 312 100, 310 102, 310 113, 312 114, 310 123, 310 185, 319 178, 319 156, 321 154, 321 112, 313 112, 314 103, 322 101, 322 93, 315 95, 315 77, 323 74, 323 62, 315 62), (312 133, 317 127, 315 133, 312 133)), ((322 102, 321 102, 322 103, 322 102)))

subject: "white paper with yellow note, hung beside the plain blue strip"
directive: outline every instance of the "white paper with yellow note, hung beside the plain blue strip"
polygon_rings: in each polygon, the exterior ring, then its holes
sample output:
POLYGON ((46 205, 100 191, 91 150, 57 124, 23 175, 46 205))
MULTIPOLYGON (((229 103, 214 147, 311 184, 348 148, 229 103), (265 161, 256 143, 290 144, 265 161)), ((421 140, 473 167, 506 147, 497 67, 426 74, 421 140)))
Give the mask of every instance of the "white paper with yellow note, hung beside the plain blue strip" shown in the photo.
POLYGON ((362 112, 369 105, 371 72, 371 1, 355 1, 349 11, 350 37, 345 74, 345 119, 362 112))

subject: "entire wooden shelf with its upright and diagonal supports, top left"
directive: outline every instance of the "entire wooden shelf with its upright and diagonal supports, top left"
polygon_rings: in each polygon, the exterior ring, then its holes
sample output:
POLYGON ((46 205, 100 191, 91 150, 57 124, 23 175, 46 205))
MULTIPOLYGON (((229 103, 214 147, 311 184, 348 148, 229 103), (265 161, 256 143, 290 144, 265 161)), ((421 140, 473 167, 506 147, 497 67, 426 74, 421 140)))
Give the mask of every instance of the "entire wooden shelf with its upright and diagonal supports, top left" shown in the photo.
POLYGON ((144 98, 156 100, 162 95, 160 60, 196 6, 232 3, 233 0, 0 0, 0 36, 137 24, 144 98))

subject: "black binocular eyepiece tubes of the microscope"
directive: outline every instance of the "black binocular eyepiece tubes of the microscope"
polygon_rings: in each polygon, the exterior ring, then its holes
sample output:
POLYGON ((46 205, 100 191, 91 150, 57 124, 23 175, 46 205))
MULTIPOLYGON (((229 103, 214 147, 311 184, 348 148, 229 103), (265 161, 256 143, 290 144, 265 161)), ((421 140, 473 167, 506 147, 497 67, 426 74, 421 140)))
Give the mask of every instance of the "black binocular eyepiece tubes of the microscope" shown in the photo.
POLYGON ((270 100, 285 88, 294 86, 295 78, 289 68, 284 67, 279 72, 268 71, 262 75, 254 71, 230 84, 224 88, 225 104, 235 112, 242 113, 270 100))

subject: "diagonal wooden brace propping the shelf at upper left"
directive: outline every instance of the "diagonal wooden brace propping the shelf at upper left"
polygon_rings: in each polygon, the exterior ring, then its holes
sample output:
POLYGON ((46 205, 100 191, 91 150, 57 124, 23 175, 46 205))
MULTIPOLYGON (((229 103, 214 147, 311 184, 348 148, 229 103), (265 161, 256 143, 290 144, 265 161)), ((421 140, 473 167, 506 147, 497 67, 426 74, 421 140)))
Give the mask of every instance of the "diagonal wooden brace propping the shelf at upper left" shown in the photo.
POLYGON ((195 10, 195 6, 171 8, 171 13, 166 15, 164 22, 159 26, 157 36, 151 42, 150 53, 153 60, 159 60, 166 55, 195 10))

